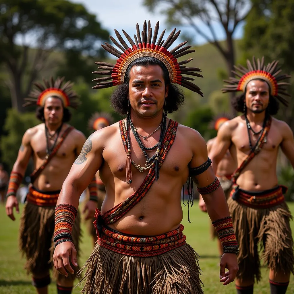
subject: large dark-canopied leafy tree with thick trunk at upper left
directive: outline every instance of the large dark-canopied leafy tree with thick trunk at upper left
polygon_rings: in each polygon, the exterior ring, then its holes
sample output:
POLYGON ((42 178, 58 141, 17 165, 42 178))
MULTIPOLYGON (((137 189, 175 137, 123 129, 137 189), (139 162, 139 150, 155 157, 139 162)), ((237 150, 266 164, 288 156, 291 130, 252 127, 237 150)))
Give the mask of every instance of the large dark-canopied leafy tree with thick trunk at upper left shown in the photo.
POLYGON ((52 51, 65 52, 64 59, 69 51, 70 60, 78 61, 84 55, 99 55, 101 40, 107 39, 108 32, 81 4, 67 0, 0 0, 0 63, 9 72, 6 84, 13 108, 24 111, 23 99, 39 71, 54 65, 47 64, 52 51))

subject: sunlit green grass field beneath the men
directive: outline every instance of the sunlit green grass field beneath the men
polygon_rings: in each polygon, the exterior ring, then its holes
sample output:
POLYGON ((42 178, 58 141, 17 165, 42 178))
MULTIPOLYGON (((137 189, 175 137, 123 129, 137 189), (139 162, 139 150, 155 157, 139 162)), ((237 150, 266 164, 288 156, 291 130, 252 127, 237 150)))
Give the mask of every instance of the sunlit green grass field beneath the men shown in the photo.
MULTIPOLYGON (((290 210, 294 215, 294 203, 289 203, 290 210)), ((22 207, 21 207, 22 208, 22 207)), ((188 223, 187 209, 184 208, 183 225, 187 242, 200 255, 200 267, 202 269, 202 281, 204 293, 206 294, 231 294, 235 293, 233 283, 223 286, 219 282, 219 258, 216 241, 212 241, 209 235, 209 219, 207 214, 202 213, 197 204, 191 209, 191 222, 188 223)), ((24 258, 18 249, 18 228, 19 215, 15 222, 9 220, 5 213, 4 205, 0 205, 0 293, 1 294, 34 294, 34 287, 31 285, 31 277, 23 270, 24 258)), ((291 223, 294 232, 294 223, 291 223)), ((91 239, 85 232, 81 244, 82 265, 91 253, 91 239)), ((78 293, 81 287, 74 289, 78 293)), ((56 285, 52 282, 49 286, 49 293, 56 293, 56 285)), ((268 270, 262 268, 262 280, 255 286, 254 293, 268 294, 268 270)), ((294 279, 290 280, 287 293, 294 293, 294 279)))

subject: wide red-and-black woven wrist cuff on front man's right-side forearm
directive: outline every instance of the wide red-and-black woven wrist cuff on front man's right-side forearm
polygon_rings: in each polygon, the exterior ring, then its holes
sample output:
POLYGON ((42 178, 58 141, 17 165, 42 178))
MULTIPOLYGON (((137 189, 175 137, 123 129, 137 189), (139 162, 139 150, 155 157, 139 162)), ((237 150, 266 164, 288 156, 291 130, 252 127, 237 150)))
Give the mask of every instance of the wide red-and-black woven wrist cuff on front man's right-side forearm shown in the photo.
POLYGON ((233 229, 232 217, 227 216, 212 222, 223 246, 223 253, 239 253, 236 235, 233 229))

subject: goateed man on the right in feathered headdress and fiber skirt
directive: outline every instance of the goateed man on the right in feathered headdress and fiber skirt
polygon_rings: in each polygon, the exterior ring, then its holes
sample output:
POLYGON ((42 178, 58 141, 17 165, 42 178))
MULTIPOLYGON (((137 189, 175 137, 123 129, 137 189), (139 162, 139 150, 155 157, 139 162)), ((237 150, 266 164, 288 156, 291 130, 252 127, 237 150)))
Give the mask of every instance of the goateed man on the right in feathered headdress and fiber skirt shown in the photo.
POLYGON ((236 288, 238 293, 253 293, 260 280, 258 243, 261 257, 270 269, 270 293, 286 293, 290 273, 294 273, 291 214, 278 185, 276 163, 278 150, 294 166, 293 132, 284 122, 273 118, 278 101, 288 106, 283 96, 289 96, 283 80, 290 78, 264 59, 248 60, 246 69, 235 67, 237 78, 230 78, 223 92, 242 91, 232 101, 236 111, 243 114, 227 121, 219 129, 210 153, 213 169, 229 149, 238 163, 232 176, 233 189, 228 205, 233 217, 240 251, 236 288))

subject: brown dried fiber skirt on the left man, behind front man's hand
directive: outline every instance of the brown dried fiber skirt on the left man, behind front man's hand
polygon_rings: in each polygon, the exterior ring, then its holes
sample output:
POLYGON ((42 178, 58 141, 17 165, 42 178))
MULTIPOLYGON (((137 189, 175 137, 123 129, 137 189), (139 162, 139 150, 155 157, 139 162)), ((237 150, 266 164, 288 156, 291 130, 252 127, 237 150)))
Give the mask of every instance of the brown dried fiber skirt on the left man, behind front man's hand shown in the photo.
MULTIPOLYGON (((42 207, 32 203, 26 203, 20 220, 19 246, 21 252, 26 256, 25 269, 28 273, 46 274, 53 268, 54 279, 74 280, 76 274, 70 274, 68 278, 59 274, 53 267, 54 253, 54 216, 55 207, 42 207)), ((80 214, 76 216, 72 237, 79 257, 79 240, 81 237, 80 214)), ((78 267, 72 267, 75 273, 78 267)))

